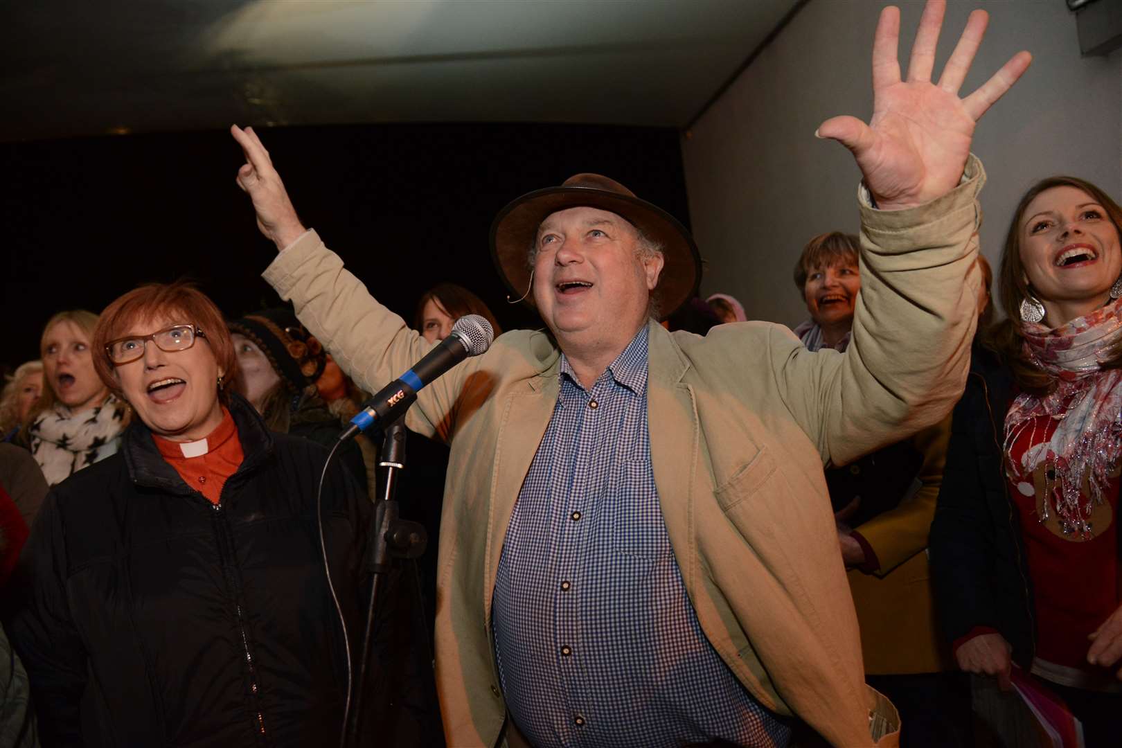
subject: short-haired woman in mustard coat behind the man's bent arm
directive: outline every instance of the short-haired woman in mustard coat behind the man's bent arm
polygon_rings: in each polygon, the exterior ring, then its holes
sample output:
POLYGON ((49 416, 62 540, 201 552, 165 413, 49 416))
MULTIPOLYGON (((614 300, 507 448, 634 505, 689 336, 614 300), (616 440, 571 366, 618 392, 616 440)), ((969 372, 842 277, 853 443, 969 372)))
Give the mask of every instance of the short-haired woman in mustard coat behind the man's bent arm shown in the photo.
MULTIPOLYGON (((810 312, 795 334, 819 355, 849 345, 859 248, 857 237, 833 231, 807 242, 795 264, 794 281, 810 312)), ((949 434, 944 418, 825 471, 866 681, 900 710, 904 748, 962 745, 968 733, 968 694, 936 631, 926 553, 949 434)))

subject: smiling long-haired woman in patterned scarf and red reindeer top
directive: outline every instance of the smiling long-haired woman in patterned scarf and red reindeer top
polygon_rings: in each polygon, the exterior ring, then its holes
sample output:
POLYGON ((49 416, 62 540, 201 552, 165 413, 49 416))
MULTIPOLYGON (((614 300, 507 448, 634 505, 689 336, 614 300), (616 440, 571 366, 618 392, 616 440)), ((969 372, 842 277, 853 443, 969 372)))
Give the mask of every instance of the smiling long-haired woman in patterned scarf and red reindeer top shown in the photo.
POLYGON ((962 669, 1058 693, 1087 746, 1122 729, 1122 209, 1049 177, 1021 198, 999 271, 1009 318, 954 412, 931 563, 962 669))

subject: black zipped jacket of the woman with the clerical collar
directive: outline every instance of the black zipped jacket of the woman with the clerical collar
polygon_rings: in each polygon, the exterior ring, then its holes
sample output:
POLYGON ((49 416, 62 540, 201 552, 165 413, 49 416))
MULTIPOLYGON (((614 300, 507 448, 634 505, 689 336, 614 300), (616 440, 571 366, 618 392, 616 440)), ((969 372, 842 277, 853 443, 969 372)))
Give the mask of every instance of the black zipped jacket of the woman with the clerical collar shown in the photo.
MULTIPOLYGON (((245 461, 220 506, 139 422, 44 502, 9 628, 44 746, 338 741, 346 654, 315 505, 327 451, 267 432, 243 400, 230 409, 245 461)), ((352 647, 369 512, 333 463, 323 535, 352 647)))

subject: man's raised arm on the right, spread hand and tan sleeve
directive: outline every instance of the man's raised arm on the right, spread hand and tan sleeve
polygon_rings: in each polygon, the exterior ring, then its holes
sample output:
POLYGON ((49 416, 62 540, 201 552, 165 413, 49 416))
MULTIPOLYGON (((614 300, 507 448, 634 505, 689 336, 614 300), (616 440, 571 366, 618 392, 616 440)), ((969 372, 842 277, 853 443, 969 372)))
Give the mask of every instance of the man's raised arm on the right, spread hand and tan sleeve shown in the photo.
POLYGON ((864 175, 862 289, 845 354, 776 344, 784 399, 825 461, 845 464, 929 426, 962 394, 976 325, 977 193, 985 181, 969 146, 976 120, 1024 72, 1018 53, 959 99, 986 13, 971 15, 938 84, 931 83, 945 2, 929 0, 907 80, 900 15, 881 13, 873 45, 873 118, 827 120, 820 137, 849 148, 864 175))

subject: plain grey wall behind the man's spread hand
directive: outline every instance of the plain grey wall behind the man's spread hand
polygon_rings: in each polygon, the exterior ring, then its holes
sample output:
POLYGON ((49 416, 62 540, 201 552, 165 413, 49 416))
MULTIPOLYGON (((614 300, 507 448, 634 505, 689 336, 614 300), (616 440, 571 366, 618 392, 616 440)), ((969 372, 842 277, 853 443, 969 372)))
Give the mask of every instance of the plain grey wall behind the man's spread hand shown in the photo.
MULTIPOLYGON (((859 172, 842 146, 813 133, 836 114, 871 116, 870 50, 883 4, 811 0, 683 136, 690 218, 707 260, 702 292, 732 293, 749 318, 803 320, 791 280, 802 246, 824 231, 857 229, 859 172)), ((922 2, 898 4, 907 72, 922 2)), ((964 94, 1019 49, 1033 54, 975 131, 988 174, 982 248, 996 269, 1013 207, 1036 179, 1074 174, 1122 197, 1122 50, 1080 58, 1064 0, 950 0, 936 80, 980 6, 990 29, 964 94)))

